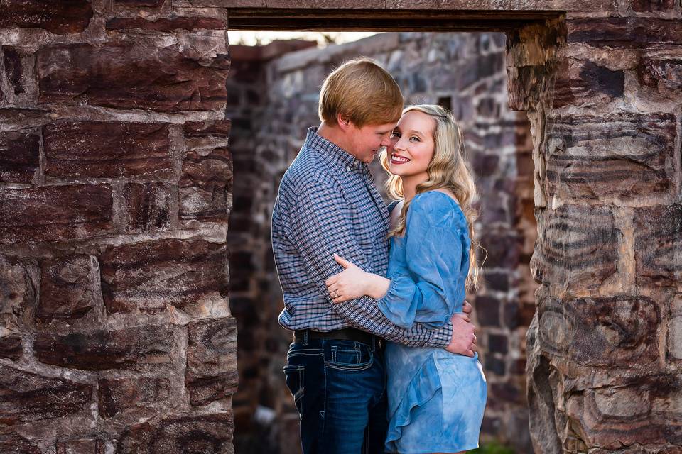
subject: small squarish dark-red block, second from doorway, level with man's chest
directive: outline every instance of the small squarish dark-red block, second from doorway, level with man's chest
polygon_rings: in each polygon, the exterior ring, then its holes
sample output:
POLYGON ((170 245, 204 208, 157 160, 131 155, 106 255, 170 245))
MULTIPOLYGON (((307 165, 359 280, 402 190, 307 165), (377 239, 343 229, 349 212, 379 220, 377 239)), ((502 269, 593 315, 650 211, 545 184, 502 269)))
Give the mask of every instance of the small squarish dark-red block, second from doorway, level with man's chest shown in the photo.
POLYGON ((123 189, 124 231, 158 231, 170 228, 172 189, 166 183, 126 184, 123 189))

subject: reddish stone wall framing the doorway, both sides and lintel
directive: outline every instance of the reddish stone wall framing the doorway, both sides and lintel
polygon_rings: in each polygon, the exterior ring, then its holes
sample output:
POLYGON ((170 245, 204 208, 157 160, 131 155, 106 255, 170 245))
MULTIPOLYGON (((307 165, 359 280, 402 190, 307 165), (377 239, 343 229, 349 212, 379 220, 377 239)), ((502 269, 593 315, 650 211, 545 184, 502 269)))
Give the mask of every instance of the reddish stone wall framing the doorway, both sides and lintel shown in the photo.
POLYGON ((1 450, 232 451, 226 31, 268 24, 507 32, 534 136, 536 451, 682 449, 678 1, 3 6, 1 450))

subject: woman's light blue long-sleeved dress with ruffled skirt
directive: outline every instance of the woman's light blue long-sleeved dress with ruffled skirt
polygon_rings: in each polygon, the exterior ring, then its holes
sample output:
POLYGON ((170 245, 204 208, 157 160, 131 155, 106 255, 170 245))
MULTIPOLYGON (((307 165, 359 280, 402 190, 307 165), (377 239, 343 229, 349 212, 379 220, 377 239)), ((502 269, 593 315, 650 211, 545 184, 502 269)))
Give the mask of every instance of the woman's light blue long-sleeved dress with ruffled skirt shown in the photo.
MULTIPOLYGON (((391 237, 386 295, 393 323, 443 326, 462 311, 470 238, 458 203, 443 192, 417 194, 406 233, 391 237)), ((390 453, 456 453, 478 447, 487 387, 478 355, 443 348, 386 346, 390 453)))

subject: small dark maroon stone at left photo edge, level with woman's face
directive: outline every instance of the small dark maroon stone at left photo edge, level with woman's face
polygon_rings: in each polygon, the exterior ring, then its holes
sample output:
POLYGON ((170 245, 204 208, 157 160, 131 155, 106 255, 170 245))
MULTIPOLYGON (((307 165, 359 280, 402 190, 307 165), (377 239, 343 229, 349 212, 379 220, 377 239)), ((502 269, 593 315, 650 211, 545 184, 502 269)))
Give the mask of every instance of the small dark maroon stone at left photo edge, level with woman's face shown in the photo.
POLYGON ((0 133, 0 181, 31 183, 40 167, 40 136, 31 132, 0 133))

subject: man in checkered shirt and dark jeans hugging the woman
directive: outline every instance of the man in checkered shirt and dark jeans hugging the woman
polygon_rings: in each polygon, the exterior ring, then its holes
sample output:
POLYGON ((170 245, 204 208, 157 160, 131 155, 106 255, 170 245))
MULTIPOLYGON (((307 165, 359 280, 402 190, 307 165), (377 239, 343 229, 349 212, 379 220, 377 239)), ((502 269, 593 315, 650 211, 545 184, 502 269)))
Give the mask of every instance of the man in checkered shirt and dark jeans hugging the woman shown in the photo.
POLYGON ((285 306, 279 322, 294 331, 284 372, 305 454, 384 452, 382 339, 475 351, 466 315, 442 328, 406 330, 369 297, 332 304, 325 286, 342 270, 335 253, 386 274, 389 214, 367 164, 389 145, 402 107, 396 82, 372 60, 352 60, 329 74, 320 92, 322 123, 308 129, 275 202, 272 245, 285 306))

